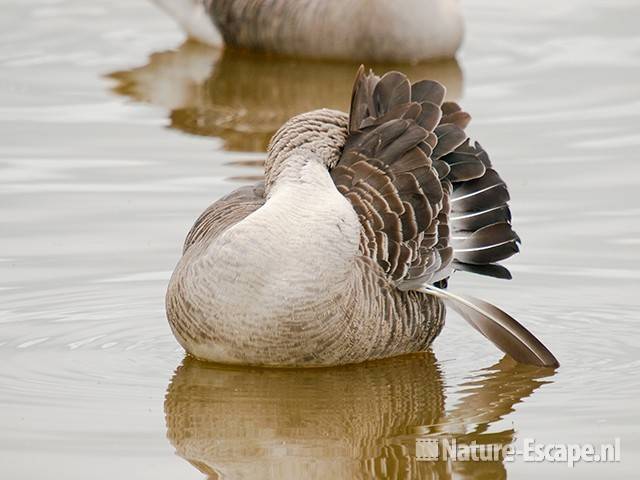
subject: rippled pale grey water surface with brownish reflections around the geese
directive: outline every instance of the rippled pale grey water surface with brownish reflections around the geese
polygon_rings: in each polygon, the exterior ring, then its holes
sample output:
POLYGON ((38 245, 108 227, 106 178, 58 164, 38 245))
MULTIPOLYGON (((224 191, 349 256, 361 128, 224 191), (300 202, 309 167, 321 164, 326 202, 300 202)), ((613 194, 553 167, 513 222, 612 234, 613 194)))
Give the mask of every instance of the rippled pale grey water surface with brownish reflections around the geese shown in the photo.
POLYGON ((465 11, 457 62, 401 68, 442 81, 472 113, 524 245, 511 282, 452 284, 538 333, 556 372, 501 360, 453 313, 432 352, 368 365, 184 359, 163 296, 186 231, 260 175, 286 118, 345 109, 355 66, 181 44, 140 0, 3 3, 3 478, 637 475, 640 6, 483 0, 465 11), (417 462, 425 436, 617 437, 622 453, 573 469, 417 462))

